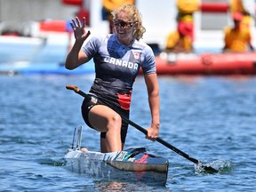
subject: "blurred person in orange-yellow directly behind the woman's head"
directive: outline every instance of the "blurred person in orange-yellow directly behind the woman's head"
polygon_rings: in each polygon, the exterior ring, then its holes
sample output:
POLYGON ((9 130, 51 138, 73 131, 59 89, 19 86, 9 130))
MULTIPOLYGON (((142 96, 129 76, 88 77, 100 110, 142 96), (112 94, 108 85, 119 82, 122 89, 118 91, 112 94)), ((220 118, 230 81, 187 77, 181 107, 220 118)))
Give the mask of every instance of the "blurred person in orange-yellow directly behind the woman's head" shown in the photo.
POLYGON ((113 18, 111 12, 124 4, 135 4, 135 0, 102 0, 102 19, 108 20, 110 33, 113 33, 113 18))

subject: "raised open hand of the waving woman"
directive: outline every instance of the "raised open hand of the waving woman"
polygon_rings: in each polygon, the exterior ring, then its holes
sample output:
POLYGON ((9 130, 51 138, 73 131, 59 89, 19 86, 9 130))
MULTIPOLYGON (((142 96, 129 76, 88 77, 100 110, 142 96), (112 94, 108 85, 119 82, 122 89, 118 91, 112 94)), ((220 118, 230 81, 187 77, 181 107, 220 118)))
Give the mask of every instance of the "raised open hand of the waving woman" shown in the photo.
POLYGON ((81 24, 81 21, 76 17, 76 20, 72 20, 73 23, 70 23, 71 27, 74 31, 74 36, 76 40, 85 41, 85 39, 90 36, 91 32, 86 32, 85 30, 85 18, 83 18, 83 25, 81 24))

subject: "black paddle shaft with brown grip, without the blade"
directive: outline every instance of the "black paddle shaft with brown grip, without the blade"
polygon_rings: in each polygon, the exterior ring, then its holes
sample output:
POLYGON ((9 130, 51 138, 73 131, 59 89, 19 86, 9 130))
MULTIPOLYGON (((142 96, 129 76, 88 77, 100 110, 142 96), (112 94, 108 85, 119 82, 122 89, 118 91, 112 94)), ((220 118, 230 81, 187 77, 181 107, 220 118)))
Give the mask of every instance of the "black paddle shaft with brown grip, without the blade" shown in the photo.
MULTIPOLYGON (((91 97, 86 94, 85 92, 82 92, 78 87, 76 87, 75 85, 67 85, 66 88, 68 90, 73 90, 74 92, 80 94, 81 96, 83 96, 86 100, 91 100, 91 97)), ((117 111, 116 111, 117 112, 117 111)), ((117 112, 118 113, 118 112, 117 112)), ((135 127, 137 130, 139 130, 140 132, 143 132, 145 135, 148 134, 148 131, 144 128, 142 128, 139 124, 135 124, 134 122, 132 122, 130 119, 128 119, 127 117, 123 116, 121 113, 118 113, 122 119, 124 120, 124 122, 126 122, 127 124, 132 125, 133 127, 135 127)), ((179 148, 175 148, 174 146, 172 146, 170 143, 166 142, 165 140, 162 140, 161 138, 157 138, 156 141, 158 141, 159 143, 163 144, 166 148, 170 148, 172 149, 172 151, 176 152, 177 154, 179 154, 180 156, 183 156, 185 158, 187 158, 189 161, 195 163, 195 164, 199 164, 200 162, 196 159, 193 158, 191 156, 188 156, 188 154, 186 154, 185 152, 181 151, 179 148)))

